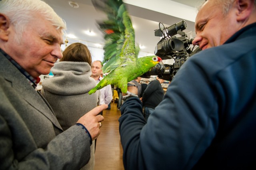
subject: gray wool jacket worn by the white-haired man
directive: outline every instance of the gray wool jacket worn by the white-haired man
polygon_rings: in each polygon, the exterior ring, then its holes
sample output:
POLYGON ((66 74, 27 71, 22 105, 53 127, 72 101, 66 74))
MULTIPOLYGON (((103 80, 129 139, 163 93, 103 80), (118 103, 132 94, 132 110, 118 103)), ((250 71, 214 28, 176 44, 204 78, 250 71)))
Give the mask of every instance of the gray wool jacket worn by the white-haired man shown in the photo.
POLYGON ((0 169, 79 169, 90 158, 85 130, 63 132, 47 101, 2 53, 0 150, 0 169))

